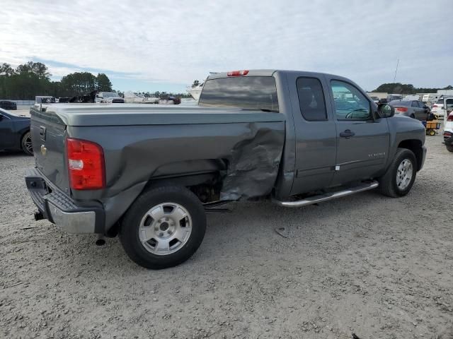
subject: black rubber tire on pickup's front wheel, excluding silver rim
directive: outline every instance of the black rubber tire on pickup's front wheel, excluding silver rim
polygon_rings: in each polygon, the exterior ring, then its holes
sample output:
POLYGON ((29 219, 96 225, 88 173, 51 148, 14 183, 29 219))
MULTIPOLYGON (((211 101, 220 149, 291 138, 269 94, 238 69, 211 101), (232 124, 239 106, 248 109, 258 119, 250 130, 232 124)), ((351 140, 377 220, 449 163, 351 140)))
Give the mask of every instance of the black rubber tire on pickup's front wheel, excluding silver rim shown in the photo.
POLYGON ((415 182, 415 177, 417 175, 417 159, 411 150, 406 148, 398 148, 394 160, 391 162, 391 165, 387 169, 387 172, 383 177, 379 178, 379 191, 381 191, 384 196, 391 196, 392 198, 397 198, 399 196, 406 196, 406 194, 411 191, 413 183, 415 182), (398 187, 396 183, 398 167, 404 160, 409 160, 412 163, 412 177, 408 186, 404 189, 398 187))

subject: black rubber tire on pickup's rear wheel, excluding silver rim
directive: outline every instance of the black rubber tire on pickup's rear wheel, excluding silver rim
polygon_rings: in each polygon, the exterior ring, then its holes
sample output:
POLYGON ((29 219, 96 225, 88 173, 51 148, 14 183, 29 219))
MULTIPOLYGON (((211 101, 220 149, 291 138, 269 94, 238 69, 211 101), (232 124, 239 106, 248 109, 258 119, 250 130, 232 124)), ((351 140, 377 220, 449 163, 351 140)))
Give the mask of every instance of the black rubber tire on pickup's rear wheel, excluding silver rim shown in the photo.
MULTIPOLYGON (((159 231, 160 232, 160 231, 159 231)), ((200 200, 182 186, 158 186, 144 191, 121 221, 120 242, 127 255, 139 266, 159 270, 177 266, 197 251, 206 232, 206 215, 200 200), (192 225, 190 235, 180 249, 171 254, 153 254, 139 238, 139 227, 144 215, 161 203, 176 203, 188 211, 192 225)))

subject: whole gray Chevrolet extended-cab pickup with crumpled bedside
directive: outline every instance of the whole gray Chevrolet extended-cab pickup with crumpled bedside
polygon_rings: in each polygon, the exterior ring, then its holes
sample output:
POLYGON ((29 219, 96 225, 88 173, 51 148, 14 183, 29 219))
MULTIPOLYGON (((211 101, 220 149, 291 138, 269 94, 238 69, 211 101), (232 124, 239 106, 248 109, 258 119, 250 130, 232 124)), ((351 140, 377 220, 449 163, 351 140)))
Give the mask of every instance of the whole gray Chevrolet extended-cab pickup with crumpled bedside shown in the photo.
POLYGON ((217 73, 193 107, 35 105, 30 113, 36 165, 25 181, 35 219, 119 235, 134 262, 154 269, 190 258, 205 213, 225 203, 300 207, 375 188, 404 196, 426 154, 420 121, 323 73, 217 73))

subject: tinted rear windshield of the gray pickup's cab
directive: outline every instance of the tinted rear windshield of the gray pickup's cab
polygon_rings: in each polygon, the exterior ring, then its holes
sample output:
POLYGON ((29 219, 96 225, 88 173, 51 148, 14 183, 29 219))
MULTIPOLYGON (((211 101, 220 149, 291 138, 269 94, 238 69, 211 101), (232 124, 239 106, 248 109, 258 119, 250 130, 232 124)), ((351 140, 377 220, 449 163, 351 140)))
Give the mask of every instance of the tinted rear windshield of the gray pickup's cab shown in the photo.
POLYGON ((208 80, 203 87, 198 104, 278 112, 275 78, 237 76, 208 80))

